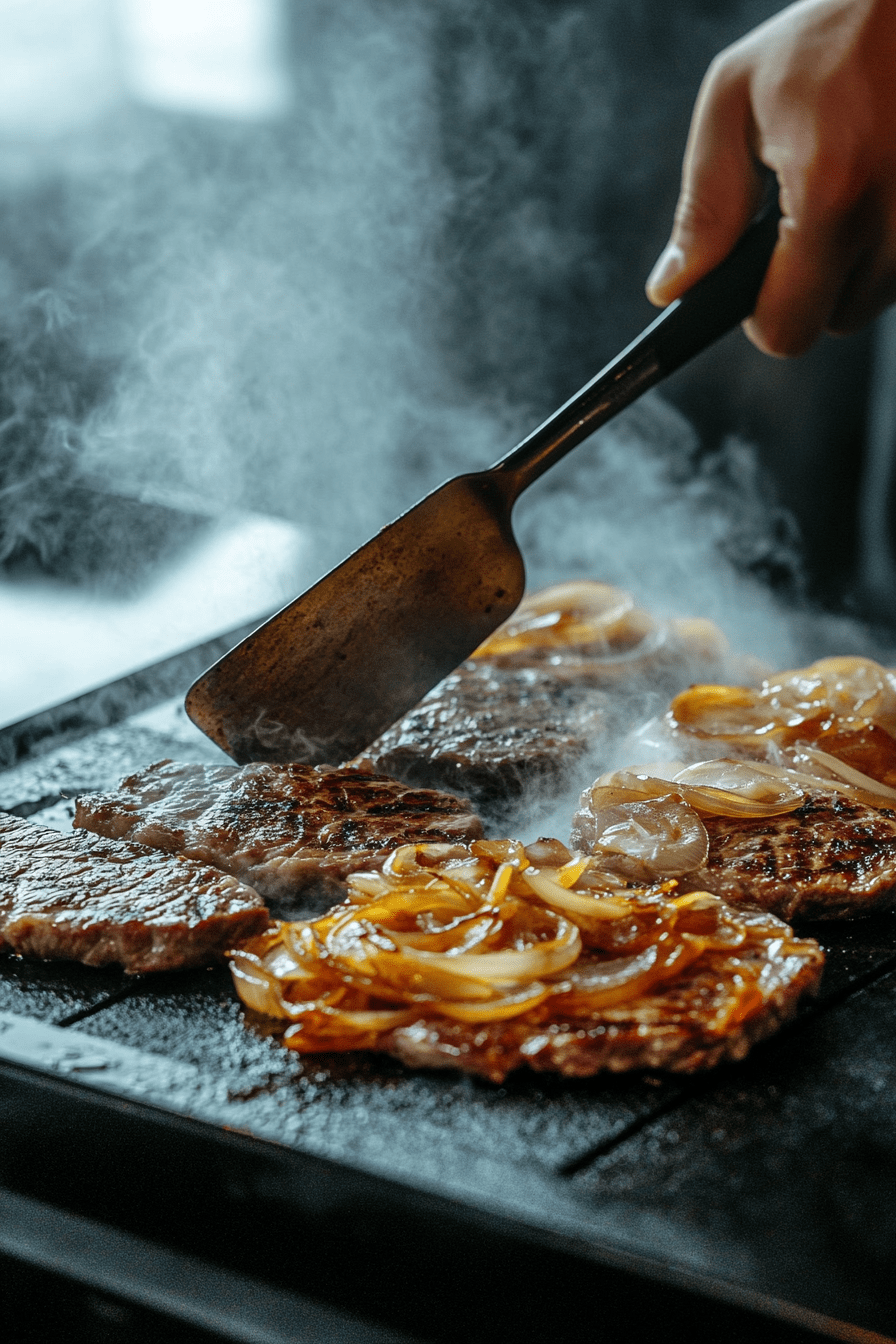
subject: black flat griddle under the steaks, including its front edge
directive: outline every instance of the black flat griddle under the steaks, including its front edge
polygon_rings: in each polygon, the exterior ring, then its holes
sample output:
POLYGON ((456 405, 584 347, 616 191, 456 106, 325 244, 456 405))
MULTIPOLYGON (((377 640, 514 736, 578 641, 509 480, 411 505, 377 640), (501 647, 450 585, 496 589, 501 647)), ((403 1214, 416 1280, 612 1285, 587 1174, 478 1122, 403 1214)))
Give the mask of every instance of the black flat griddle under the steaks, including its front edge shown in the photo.
MULTIPOLYGON (((0 808, 224 759, 163 699, 204 652, 3 730, 0 808)), ((501 1087, 300 1058, 222 968, 0 954, 7 1337, 893 1337, 896 915, 810 931, 819 999, 743 1064, 501 1087)))

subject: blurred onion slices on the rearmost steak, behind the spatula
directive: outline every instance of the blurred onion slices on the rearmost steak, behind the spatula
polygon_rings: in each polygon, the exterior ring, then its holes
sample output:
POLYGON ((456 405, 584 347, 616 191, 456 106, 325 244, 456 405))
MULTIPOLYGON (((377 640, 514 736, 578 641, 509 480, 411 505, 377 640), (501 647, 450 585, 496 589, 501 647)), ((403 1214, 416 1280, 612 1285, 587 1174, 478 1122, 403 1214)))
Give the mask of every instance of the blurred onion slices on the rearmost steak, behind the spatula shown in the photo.
POLYGON ((531 593, 473 657, 578 650, 590 659, 611 660, 653 650, 666 641, 703 661, 721 657, 727 648, 712 621, 677 620, 664 625, 635 606, 625 589, 583 579, 531 593))

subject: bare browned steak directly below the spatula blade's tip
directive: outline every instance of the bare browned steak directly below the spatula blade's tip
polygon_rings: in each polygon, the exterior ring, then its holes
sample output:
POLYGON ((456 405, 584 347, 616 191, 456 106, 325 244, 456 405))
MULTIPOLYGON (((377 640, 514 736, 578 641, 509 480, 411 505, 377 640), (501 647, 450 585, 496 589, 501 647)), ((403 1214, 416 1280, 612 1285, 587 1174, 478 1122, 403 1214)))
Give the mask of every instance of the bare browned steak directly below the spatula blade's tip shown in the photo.
POLYGON ((160 761, 111 793, 78 800, 75 827, 183 853, 263 896, 292 898, 376 868, 398 845, 469 841, 482 823, 461 798, 364 770, 160 761))

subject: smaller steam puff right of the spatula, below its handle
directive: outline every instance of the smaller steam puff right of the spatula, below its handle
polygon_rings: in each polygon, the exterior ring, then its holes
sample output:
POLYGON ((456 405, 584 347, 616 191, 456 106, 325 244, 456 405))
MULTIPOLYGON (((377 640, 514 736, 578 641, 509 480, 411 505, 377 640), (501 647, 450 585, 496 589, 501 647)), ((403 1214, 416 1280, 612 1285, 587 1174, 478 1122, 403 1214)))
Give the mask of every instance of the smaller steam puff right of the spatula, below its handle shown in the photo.
POLYGON ((643 398, 521 503, 529 577, 599 575, 656 616, 709 617, 735 649, 787 667, 802 653, 795 524, 748 444, 699 449, 678 411, 643 398))

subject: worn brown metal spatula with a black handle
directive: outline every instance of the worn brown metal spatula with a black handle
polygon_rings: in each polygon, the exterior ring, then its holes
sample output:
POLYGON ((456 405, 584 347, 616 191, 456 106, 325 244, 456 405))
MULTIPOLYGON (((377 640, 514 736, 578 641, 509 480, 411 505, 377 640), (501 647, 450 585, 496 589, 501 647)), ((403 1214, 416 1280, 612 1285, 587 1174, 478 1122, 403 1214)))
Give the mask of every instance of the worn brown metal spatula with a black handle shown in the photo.
POLYGON ((187 695, 193 723, 239 762, 340 762, 416 704, 523 597, 520 493, 750 316, 779 218, 770 202, 716 270, 490 470, 427 495, 210 668, 187 695))

